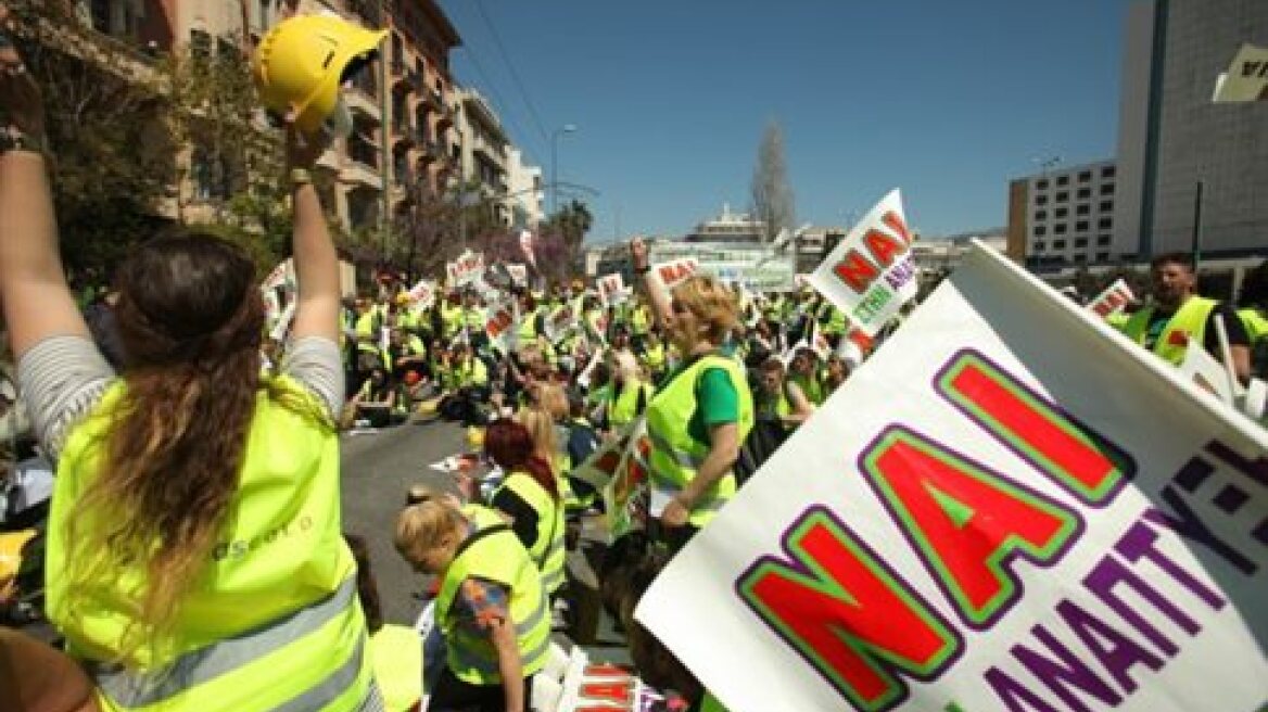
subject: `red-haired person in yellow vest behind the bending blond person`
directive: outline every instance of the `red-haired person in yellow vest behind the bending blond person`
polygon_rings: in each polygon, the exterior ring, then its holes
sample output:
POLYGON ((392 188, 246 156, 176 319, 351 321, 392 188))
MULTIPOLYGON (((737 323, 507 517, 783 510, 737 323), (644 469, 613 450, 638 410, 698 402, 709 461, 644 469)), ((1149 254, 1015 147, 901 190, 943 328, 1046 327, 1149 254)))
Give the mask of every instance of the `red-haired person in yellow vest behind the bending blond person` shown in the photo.
POLYGON ((564 517, 559 483, 550 465, 533 452, 533 436, 520 423, 500 418, 484 432, 484 452, 506 473, 489 504, 511 518, 511 531, 554 594, 564 583, 564 517))

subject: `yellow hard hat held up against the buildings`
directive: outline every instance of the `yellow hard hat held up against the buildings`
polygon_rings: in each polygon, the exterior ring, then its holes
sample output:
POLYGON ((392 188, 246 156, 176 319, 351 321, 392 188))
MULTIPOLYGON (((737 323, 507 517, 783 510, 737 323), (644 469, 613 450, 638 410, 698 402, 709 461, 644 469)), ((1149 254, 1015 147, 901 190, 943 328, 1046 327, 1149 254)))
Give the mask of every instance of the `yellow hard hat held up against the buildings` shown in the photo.
POLYGON ((312 134, 339 106, 345 76, 373 60, 387 30, 369 30, 331 15, 283 20, 260 42, 251 76, 261 103, 278 114, 295 111, 312 134))

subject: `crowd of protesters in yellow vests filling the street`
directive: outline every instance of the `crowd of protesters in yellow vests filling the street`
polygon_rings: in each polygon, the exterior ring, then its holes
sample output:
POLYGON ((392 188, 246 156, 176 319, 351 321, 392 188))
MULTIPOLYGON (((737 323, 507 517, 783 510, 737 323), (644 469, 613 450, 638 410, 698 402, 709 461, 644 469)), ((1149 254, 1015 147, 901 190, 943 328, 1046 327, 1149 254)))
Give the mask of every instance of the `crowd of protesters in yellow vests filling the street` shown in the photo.
MULTIPOLYGON (((643 423, 638 544, 614 542, 631 554, 604 571, 620 582, 605 590, 640 674, 691 709, 720 708, 631 611, 875 346, 843 312, 809 289, 751 295, 706 274, 667 286, 639 239, 629 295, 530 275, 451 285, 434 303, 394 280, 345 300, 309 174, 325 144, 288 127, 284 340, 266 337, 243 252, 186 228, 137 248, 85 314, 58 256, 39 96, 11 44, 0 103, 0 302, 16 362, 0 395, 5 416, 22 397, 11 427, 29 423, 56 464, 43 570, 61 640, 0 627, 0 704, 410 709, 426 693, 431 709, 530 709, 568 522, 604 505, 571 474, 643 423), (507 298, 516 318, 489 328, 507 298), (341 428, 420 418, 479 428, 502 473, 488 493, 411 492, 396 522, 401 556, 436 582, 443 651, 426 689, 422 642, 384 626, 339 494, 341 428)), ((1222 348, 1222 331, 1236 374, 1262 375, 1262 267, 1240 314, 1194 294, 1183 256, 1155 260, 1153 276, 1153 303, 1121 321, 1129 337, 1174 362, 1188 341, 1222 348)))

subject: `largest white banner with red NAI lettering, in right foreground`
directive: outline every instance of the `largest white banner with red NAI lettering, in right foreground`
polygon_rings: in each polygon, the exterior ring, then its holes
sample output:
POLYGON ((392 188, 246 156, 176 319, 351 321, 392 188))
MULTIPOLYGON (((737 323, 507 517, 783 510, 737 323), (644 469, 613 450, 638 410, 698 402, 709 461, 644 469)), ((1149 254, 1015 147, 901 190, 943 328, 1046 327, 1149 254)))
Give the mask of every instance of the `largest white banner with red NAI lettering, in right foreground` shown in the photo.
POLYGON ((732 712, 1268 701, 1268 433, 1032 275, 979 243, 819 413, 635 613, 732 712))

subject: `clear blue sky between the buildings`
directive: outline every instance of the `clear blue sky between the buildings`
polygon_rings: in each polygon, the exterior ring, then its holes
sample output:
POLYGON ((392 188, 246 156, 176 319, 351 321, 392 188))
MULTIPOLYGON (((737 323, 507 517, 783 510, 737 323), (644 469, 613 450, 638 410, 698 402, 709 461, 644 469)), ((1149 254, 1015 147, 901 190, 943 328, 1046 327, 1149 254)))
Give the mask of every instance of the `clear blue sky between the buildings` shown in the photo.
POLYGON ((1008 180, 1115 155, 1129 0, 440 5, 455 79, 544 181, 554 143, 558 180, 597 191, 590 242, 747 209, 772 122, 796 224, 847 226, 900 188, 923 234, 999 227, 1008 180))

